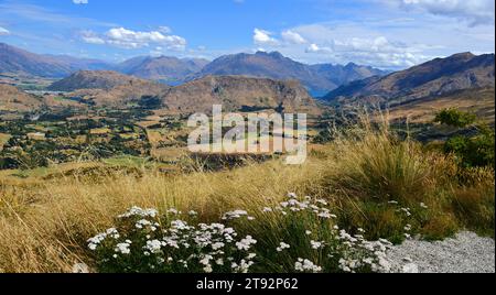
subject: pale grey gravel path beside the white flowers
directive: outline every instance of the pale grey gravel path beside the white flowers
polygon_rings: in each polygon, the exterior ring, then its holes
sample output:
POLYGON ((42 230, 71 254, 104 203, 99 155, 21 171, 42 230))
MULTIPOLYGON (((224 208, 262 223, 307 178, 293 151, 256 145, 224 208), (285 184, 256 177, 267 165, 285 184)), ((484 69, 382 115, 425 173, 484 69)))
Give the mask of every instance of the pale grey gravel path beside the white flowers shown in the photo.
POLYGON ((409 240, 388 255, 396 267, 409 273, 495 272, 495 241, 473 232, 440 242, 409 240))

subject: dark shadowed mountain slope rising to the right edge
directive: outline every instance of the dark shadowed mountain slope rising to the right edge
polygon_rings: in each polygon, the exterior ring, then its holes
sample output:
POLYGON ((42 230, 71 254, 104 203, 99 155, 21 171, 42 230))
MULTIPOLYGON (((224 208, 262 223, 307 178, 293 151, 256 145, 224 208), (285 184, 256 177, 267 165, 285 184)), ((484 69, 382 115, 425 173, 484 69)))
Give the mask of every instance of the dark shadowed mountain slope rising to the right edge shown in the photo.
POLYGON ((495 87, 495 55, 460 53, 387 75, 342 86, 324 97, 331 102, 405 103, 450 92, 495 87))

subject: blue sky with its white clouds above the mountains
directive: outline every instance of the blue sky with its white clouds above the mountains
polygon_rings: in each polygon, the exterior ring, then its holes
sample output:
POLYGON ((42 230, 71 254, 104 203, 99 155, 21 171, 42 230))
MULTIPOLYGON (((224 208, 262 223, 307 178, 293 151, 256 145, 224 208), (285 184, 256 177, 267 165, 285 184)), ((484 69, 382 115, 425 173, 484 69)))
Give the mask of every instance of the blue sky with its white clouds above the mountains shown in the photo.
POLYGON ((493 0, 0 0, 0 42, 106 61, 279 51, 403 68, 494 52, 493 0))

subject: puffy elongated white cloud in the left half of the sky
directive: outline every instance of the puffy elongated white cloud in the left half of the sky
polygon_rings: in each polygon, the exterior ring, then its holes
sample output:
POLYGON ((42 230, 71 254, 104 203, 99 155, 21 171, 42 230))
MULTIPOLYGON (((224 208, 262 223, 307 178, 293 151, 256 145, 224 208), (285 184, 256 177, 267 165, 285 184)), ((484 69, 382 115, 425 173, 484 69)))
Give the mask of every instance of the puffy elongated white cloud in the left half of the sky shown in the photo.
MULTIPOLYGON (((164 31, 163 28, 161 31, 164 31)), ((91 44, 108 44, 121 48, 142 48, 161 45, 172 51, 184 51, 186 40, 177 35, 169 35, 159 31, 139 32, 125 28, 110 29, 103 35, 83 32, 82 40, 91 44)))

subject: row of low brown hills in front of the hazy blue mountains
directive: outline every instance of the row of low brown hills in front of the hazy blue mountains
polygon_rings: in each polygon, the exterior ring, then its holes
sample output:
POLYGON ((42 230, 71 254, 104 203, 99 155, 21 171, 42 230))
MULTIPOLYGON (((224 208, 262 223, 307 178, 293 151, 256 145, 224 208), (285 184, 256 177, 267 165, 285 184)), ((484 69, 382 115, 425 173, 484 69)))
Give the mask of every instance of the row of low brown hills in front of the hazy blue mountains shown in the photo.
POLYGON ((278 110, 319 114, 317 102, 298 80, 274 80, 244 76, 206 76, 170 87, 115 72, 82 70, 55 86, 73 89, 63 99, 56 95, 34 96, 0 84, 0 111, 32 112, 41 107, 110 107, 128 109, 140 105, 174 113, 212 112, 213 105, 225 111, 278 110), (121 78, 119 83, 116 79, 121 78), (80 88, 79 88, 80 87, 80 88))

